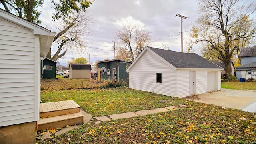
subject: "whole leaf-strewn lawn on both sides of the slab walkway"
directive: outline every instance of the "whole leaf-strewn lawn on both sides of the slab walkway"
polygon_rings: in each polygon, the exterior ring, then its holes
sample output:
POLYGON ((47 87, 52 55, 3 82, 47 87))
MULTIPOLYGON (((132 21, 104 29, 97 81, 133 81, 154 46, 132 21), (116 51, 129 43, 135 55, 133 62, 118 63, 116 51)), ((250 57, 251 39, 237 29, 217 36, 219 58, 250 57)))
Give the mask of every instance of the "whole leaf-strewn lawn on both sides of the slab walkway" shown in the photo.
POLYGON ((224 109, 220 106, 129 88, 44 90, 41 92, 41 98, 43 102, 72 99, 92 116, 177 106, 178 104, 186 104, 188 108, 112 120, 98 125, 82 124, 80 128, 60 136, 54 136, 54 133, 51 133, 52 138, 38 140, 38 144, 256 143, 256 114, 236 109, 224 109), (170 100, 172 104, 160 103, 160 100, 170 100))

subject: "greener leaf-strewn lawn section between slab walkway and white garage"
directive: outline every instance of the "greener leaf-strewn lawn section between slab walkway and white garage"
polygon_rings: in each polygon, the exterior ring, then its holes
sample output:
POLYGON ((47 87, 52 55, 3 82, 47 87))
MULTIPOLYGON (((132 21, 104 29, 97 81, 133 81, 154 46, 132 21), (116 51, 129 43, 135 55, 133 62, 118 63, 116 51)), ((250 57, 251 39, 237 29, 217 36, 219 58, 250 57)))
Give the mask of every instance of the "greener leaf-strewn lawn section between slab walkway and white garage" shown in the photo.
POLYGON ((177 101, 177 98, 170 96, 129 88, 45 90, 41 92, 41 100, 43 102, 74 100, 92 116, 106 116, 171 106, 169 103, 160 103, 160 100, 173 100, 172 105, 174 106, 185 103, 182 99, 177 101))

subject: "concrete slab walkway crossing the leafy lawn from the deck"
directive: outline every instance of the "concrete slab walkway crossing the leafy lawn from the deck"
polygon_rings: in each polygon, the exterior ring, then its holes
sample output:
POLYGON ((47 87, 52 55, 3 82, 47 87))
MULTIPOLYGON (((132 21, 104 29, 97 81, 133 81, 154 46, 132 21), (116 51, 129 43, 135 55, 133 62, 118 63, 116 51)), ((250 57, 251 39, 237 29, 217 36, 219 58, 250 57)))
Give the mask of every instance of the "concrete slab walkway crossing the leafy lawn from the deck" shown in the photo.
MULTIPOLYGON (((178 107, 176 106, 168 106, 165 108, 156 108, 156 109, 152 109, 152 110, 140 110, 137 112, 126 112, 126 113, 121 113, 121 114, 112 114, 112 115, 108 115, 108 116, 95 116, 92 117, 92 115, 88 114, 87 112, 85 112, 82 108, 80 108, 80 112, 82 114, 84 114, 84 124, 100 124, 101 122, 106 122, 106 121, 111 121, 111 120, 117 120, 117 119, 121 119, 121 118, 132 118, 135 116, 145 116, 148 114, 155 114, 155 113, 160 113, 160 112, 168 112, 170 110, 176 110, 176 109, 180 109, 180 108, 186 108, 186 105, 180 104, 178 105, 178 107)), ((69 130, 78 128, 80 126, 70 126, 68 128, 64 127, 62 129, 60 129, 59 131, 57 131, 55 133, 55 136, 58 136, 60 134, 64 134, 65 132, 68 132, 69 130)), ((43 134, 41 136, 41 140, 44 140, 46 138, 50 138, 50 133, 49 131, 46 132, 46 134, 43 134)))

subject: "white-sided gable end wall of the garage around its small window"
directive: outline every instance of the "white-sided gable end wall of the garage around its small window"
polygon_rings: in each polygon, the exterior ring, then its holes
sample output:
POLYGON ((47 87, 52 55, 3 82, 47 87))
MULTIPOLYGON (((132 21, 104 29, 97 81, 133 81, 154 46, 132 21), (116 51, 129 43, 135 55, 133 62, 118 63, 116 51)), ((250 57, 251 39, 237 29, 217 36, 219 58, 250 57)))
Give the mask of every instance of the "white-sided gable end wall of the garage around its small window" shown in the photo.
POLYGON ((167 96, 176 96, 176 71, 146 50, 129 71, 130 88, 167 96), (156 73, 162 73, 162 83, 156 83, 156 73))

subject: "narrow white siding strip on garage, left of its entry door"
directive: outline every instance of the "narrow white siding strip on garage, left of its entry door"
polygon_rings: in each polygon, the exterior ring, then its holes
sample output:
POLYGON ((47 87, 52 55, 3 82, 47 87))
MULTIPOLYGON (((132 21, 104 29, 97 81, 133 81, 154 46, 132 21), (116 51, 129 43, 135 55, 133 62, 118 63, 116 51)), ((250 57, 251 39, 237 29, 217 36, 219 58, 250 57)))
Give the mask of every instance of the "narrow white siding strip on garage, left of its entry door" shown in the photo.
POLYGON ((189 70, 177 70, 177 88, 176 88, 176 96, 177 97, 185 97, 189 96, 190 92, 190 71, 189 70))

